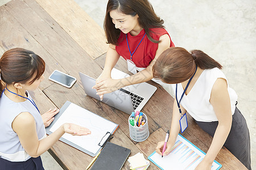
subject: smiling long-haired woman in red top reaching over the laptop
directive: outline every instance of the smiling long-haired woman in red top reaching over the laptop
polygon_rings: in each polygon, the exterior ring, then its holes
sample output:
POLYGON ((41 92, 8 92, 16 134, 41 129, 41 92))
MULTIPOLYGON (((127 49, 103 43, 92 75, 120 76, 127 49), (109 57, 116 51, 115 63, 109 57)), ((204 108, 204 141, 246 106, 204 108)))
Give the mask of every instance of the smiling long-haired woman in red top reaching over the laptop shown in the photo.
POLYGON ((108 1, 104 28, 109 49, 104 70, 93 87, 101 99, 104 94, 153 78, 156 59, 174 46, 163 23, 147 0, 108 1), (128 69, 134 75, 115 80, 111 78, 111 70, 120 56, 127 60, 128 69))

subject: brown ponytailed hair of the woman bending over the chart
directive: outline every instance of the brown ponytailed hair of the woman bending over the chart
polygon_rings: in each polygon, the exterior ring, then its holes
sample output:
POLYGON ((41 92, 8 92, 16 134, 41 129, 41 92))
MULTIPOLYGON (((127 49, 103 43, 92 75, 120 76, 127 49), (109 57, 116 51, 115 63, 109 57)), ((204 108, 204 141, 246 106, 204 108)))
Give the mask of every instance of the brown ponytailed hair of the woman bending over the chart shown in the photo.
POLYGON ((196 71, 196 66, 201 69, 222 69, 220 63, 209 57, 201 50, 192 50, 189 53, 181 47, 172 47, 165 50, 152 67, 155 79, 165 83, 176 84, 191 78, 196 71))

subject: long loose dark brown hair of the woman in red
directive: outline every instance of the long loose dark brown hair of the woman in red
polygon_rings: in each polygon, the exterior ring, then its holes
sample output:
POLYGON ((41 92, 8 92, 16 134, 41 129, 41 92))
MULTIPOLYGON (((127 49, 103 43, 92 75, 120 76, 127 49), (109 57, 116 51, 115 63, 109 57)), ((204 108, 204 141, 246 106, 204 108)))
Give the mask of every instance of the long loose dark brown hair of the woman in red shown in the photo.
POLYGON ((159 40, 154 40, 150 35, 150 28, 164 28, 164 21, 160 19, 154 12, 154 9, 148 0, 109 0, 106 7, 106 15, 104 20, 104 30, 108 44, 118 45, 120 29, 116 29, 110 18, 109 12, 118 10, 126 15, 135 16, 138 14, 139 25, 144 28, 148 39, 154 43, 159 43, 159 40))

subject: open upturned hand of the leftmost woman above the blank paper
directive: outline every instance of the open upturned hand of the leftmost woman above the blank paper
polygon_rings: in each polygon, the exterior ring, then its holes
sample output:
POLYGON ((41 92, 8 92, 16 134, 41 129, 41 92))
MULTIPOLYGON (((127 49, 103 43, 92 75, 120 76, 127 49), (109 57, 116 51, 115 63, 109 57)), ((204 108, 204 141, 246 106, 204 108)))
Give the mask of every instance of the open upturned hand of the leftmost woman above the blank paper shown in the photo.
POLYGON ((76 125, 76 124, 71 124, 71 123, 66 123, 63 125, 65 133, 69 133, 72 135, 88 135, 90 134, 90 130, 87 128, 84 128, 82 126, 76 125))

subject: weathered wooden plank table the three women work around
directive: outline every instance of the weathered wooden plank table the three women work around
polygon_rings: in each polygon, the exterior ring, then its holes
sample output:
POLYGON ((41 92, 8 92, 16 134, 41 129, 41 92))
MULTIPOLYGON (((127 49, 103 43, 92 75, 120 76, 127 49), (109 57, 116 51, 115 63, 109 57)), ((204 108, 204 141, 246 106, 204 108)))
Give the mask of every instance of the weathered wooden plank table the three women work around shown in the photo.
MULTIPOLYGON (((21 47, 34 51, 46 61, 46 79, 39 89, 31 92, 40 112, 61 108, 65 101, 80 105, 108 120, 119 124, 111 142, 131 149, 133 156, 142 152, 147 158, 157 143, 170 129, 174 99, 161 86, 144 106, 150 136, 144 142, 134 142, 129 137, 128 114, 86 96, 79 79, 79 71, 93 78, 101 74, 108 45, 104 31, 72 0, 13 0, 0 7, 0 54, 21 47), (77 78, 72 88, 65 88, 48 80, 53 70, 60 70, 77 78)), ((119 59, 117 69, 127 73, 126 62, 119 59)), ((188 116, 188 129, 183 136, 207 152, 212 137, 199 128, 188 116)), ((50 154, 64 169, 85 169, 93 159, 58 141, 50 154)), ((216 157, 222 169, 246 169, 225 147, 216 157)), ((126 162, 123 169, 129 169, 126 162)), ((151 163, 148 169, 159 169, 151 163)))

